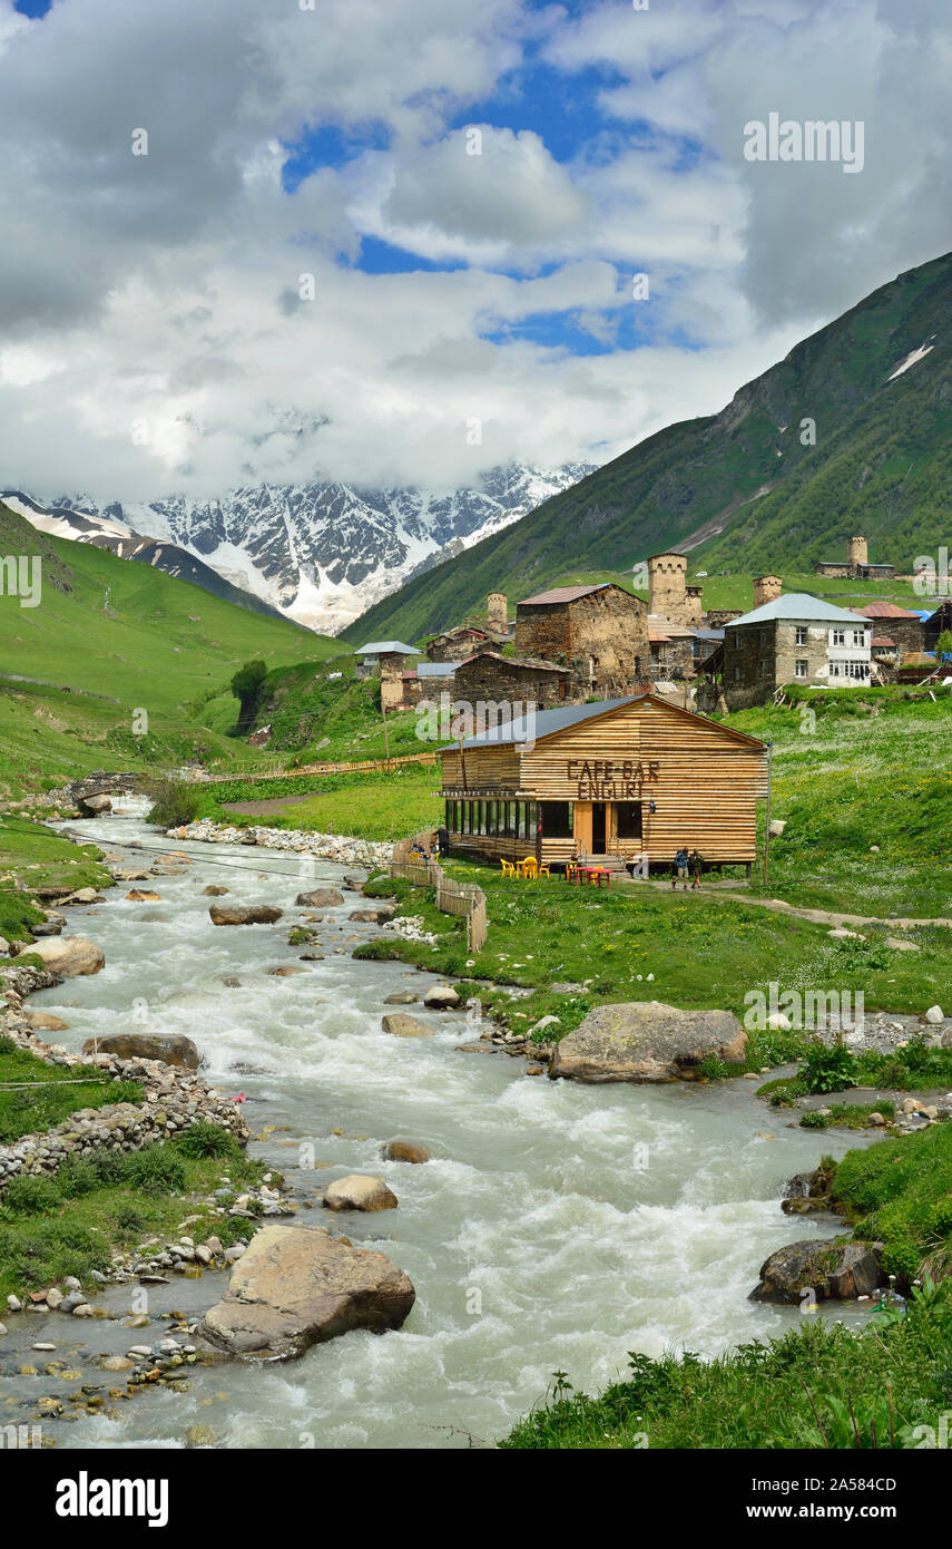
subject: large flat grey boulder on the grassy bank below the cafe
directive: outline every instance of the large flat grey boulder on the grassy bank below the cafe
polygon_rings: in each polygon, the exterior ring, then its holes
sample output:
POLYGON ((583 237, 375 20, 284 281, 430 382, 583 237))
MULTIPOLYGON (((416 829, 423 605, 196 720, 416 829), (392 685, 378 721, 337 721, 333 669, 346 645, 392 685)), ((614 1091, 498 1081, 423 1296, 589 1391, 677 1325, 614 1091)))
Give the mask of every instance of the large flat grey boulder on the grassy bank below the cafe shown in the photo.
POLYGON ((741 1061, 748 1035, 732 1011, 680 1011, 661 1001, 598 1005, 567 1033, 548 1073, 574 1081, 676 1081, 706 1055, 741 1061))

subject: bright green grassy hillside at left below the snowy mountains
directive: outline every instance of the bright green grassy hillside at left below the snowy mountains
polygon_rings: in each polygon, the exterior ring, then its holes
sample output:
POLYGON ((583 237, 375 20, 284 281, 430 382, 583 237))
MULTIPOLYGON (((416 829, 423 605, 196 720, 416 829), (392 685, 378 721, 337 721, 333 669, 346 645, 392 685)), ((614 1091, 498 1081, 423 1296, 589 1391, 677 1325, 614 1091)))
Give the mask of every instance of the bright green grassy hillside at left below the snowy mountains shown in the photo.
POLYGON ((0 553, 39 555, 43 565, 37 607, 0 596, 0 790, 8 795, 104 767, 254 759, 254 750, 229 739, 231 728, 203 725, 201 702, 228 692, 252 657, 288 665, 303 651, 316 661, 341 651, 149 565, 46 538, 3 505, 0 553))

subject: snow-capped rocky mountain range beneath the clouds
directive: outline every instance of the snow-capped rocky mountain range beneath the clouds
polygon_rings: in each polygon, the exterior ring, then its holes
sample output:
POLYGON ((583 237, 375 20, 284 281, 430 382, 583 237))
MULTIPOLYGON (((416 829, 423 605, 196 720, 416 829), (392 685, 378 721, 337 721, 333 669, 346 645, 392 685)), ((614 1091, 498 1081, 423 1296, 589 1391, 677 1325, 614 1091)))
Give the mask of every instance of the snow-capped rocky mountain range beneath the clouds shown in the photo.
MULTIPOLYGON (((593 471, 588 463, 494 468, 478 486, 358 489, 344 483, 259 485, 220 500, 172 496, 149 503, 99 503, 20 496, 22 514, 46 531, 85 542, 153 538, 187 550, 224 581, 324 634, 347 629, 410 575, 502 531, 593 471), (31 510, 33 508, 33 510, 31 510)), ((158 561, 161 564, 161 558, 158 561)))

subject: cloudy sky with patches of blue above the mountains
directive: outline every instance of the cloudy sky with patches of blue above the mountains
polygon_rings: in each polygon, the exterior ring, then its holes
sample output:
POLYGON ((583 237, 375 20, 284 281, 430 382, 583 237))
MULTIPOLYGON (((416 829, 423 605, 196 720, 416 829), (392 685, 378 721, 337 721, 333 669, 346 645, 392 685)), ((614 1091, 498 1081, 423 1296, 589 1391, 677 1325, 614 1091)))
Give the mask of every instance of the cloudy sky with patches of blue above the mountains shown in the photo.
POLYGON ((607 462, 952 248, 950 67, 941 0, 0 0, 0 486, 607 462))

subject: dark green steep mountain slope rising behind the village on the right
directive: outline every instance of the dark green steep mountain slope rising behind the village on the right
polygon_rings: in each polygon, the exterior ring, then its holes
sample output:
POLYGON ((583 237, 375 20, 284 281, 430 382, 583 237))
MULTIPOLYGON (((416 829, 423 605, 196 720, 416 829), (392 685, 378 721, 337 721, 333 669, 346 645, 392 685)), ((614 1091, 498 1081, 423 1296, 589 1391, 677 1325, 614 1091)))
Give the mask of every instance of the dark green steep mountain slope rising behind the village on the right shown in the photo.
POLYGON ((847 539, 864 531, 872 559, 909 570, 916 555, 949 542, 950 314, 946 254, 805 339, 721 414, 649 437, 410 581, 344 638, 419 638, 488 592, 525 596, 568 572, 624 570, 667 547, 690 547, 709 570, 803 572, 845 558, 847 539), (929 353, 889 381, 924 345, 929 353))

